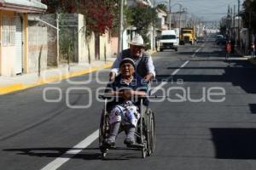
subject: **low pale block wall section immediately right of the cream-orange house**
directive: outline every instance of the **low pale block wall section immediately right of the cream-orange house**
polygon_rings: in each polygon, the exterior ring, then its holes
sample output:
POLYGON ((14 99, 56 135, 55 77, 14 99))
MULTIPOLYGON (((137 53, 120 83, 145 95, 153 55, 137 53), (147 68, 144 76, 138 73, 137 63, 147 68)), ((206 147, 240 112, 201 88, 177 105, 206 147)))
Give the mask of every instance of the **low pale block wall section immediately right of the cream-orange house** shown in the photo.
POLYGON ((28 72, 47 69, 47 27, 28 27, 28 72))

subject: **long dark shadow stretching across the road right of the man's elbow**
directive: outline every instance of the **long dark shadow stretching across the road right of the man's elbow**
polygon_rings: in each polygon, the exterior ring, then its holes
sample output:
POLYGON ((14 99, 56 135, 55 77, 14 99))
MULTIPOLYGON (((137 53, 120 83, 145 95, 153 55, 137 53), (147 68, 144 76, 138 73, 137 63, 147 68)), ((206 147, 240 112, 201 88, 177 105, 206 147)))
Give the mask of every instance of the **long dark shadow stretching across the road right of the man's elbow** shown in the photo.
MULTIPOLYGON (((191 61, 192 62, 192 61, 191 61)), ((177 67, 167 67, 166 69, 177 69, 177 67)), ((179 73, 171 77, 170 75, 157 75, 157 82, 175 82, 178 79, 183 82, 231 82, 233 86, 241 87, 247 94, 256 94, 256 67, 247 62, 247 60, 230 59, 229 66, 227 67, 183 67, 183 70, 223 70, 222 75, 208 75, 208 74, 182 74, 179 73)))

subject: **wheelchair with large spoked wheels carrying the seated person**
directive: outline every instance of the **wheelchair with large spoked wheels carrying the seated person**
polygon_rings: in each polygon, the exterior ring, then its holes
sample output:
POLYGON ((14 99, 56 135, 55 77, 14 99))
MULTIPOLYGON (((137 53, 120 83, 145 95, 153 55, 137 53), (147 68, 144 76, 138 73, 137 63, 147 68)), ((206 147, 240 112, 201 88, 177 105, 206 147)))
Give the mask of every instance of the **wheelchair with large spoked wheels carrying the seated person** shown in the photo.
MULTIPOLYGON (((100 128, 99 128, 99 149, 102 152, 102 159, 106 158, 109 150, 116 149, 115 147, 106 148, 103 142, 108 138, 110 131, 109 128, 109 117, 108 117, 108 101, 113 99, 113 96, 100 95, 101 99, 104 99, 104 108, 102 110, 100 128)), ((140 118, 137 122, 137 130, 135 133, 136 143, 132 145, 127 145, 128 148, 132 150, 140 150, 142 158, 150 156, 154 152, 155 148, 155 125, 154 125, 154 112, 151 109, 143 105, 143 98, 139 99, 140 103, 140 118)), ((124 129, 119 128, 119 133, 124 129)))

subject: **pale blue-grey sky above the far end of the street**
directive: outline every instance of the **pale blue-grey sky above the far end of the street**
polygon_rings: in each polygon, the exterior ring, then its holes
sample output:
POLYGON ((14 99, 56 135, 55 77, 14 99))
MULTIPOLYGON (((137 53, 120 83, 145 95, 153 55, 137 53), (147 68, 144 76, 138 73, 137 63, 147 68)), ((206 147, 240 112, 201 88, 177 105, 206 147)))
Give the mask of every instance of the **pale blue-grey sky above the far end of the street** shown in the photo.
MULTIPOLYGON (((168 2, 168 0, 155 0, 155 2, 168 2)), ((244 0, 241 0, 241 4, 244 0)), ((182 3, 183 8, 188 8, 188 12, 195 14, 197 17, 203 17, 203 20, 221 20, 221 18, 227 14, 228 6, 231 8, 236 5, 236 13, 238 0, 172 0, 171 6, 172 12, 179 10, 179 6, 176 3, 182 3)), ((168 5, 168 3, 165 3, 168 5)), ((242 8, 242 6, 241 6, 242 8)))

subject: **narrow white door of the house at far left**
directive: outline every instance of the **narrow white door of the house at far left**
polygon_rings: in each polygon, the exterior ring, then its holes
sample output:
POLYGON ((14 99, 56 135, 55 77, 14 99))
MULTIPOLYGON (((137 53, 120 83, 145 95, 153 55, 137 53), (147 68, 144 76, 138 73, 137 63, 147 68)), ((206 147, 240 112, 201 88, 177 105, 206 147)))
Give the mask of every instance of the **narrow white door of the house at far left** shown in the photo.
POLYGON ((22 42, 22 22, 20 19, 20 16, 15 17, 15 60, 16 60, 16 74, 22 73, 22 67, 23 67, 23 42, 22 42))

